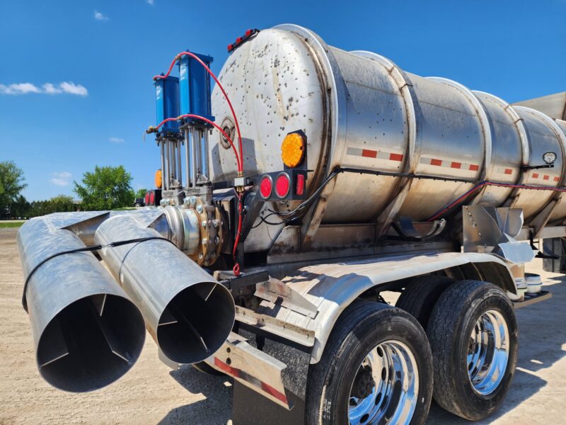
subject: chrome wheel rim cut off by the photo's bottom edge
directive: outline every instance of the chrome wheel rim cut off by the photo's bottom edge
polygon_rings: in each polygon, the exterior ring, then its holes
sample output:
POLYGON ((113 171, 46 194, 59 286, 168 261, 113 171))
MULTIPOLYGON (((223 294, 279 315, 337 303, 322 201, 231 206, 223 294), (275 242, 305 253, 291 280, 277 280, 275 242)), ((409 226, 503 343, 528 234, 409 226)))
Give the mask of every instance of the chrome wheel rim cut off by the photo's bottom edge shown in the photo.
POLYGON ((367 353, 350 387, 350 425, 409 424, 418 392, 419 374, 412 351, 400 341, 382 342, 367 353))

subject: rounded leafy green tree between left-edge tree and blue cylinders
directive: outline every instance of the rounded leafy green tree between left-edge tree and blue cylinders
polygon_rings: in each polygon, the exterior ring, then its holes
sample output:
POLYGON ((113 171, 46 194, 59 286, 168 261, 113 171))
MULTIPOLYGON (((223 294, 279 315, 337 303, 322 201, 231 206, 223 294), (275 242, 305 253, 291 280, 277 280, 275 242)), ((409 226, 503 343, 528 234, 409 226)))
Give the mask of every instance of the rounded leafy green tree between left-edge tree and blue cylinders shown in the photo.
POLYGON ((83 210, 113 210, 134 202, 132 176, 124 166, 96 166, 83 174, 82 184, 74 182, 74 192, 81 198, 83 210))

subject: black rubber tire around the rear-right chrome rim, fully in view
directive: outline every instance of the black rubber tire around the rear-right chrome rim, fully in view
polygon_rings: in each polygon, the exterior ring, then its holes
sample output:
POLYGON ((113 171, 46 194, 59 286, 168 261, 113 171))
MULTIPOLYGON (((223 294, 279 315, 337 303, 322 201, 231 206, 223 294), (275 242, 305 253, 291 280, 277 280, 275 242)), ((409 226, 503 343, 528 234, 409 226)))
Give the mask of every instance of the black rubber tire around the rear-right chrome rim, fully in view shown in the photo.
POLYGON ((470 421, 492 414, 511 386, 517 361, 517 324, 509 298, 492 283, 463 280, 451 285, 432 310, 427 328, 434 360, 434 399, 444 409, 470 421), (474 390, 466 355, 476 322, 487 310, 507 324, 509 358, 502 381, 488 395, 474 390))

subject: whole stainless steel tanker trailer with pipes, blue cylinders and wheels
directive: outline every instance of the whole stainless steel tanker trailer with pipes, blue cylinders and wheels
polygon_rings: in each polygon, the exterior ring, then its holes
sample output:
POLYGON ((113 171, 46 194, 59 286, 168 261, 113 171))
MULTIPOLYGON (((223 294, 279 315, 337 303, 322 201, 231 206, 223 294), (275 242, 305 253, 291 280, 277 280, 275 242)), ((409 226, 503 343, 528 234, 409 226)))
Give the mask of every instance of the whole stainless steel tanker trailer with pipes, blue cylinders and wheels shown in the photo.
POLYGON ((169 365, 233 378, 236 425, 492 414, 514 309, 551 295, 524 264, 562 257, 566 122, 299 26, 229 52, 154 77, 154 206, 18 233, 40 374, 108 385, 146 328, 169 365))

